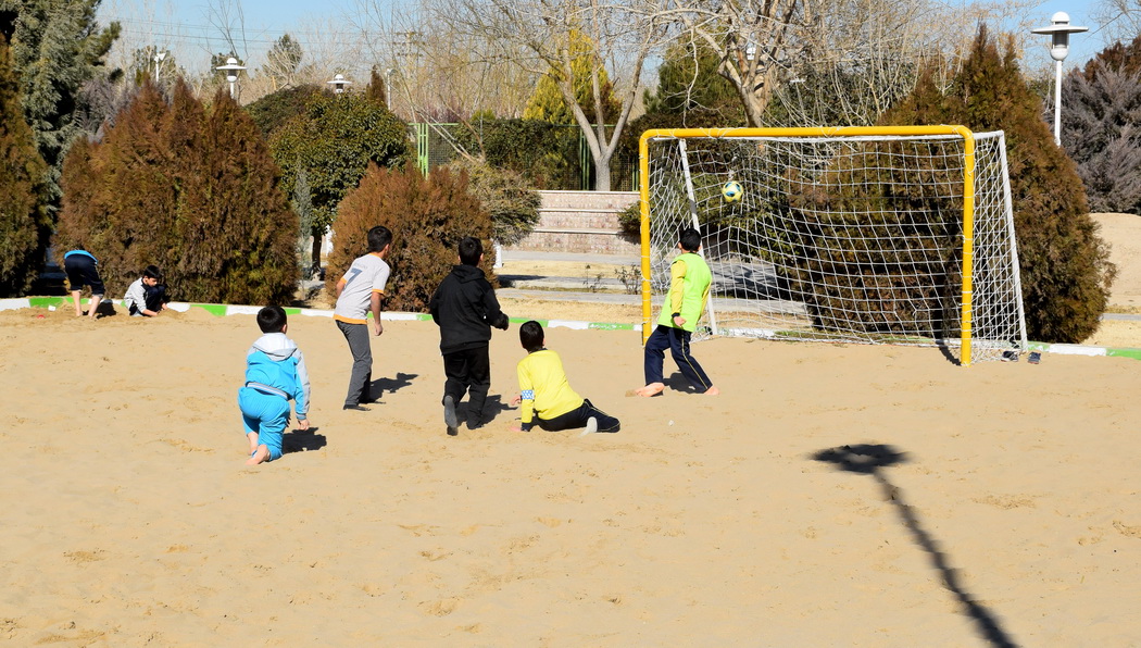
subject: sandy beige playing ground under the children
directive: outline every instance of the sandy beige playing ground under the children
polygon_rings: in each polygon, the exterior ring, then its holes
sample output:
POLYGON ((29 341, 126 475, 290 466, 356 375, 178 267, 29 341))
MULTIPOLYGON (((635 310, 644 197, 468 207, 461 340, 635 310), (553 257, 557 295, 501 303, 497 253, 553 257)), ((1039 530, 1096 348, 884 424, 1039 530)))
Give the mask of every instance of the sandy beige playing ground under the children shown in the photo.
POLYGON ((0 313, 0 642, 1141 646, 1136 361, 714 340, 722 396, 642 399, 637 333, 555 329, 623 422, 582 437, 508 430, 512 326, 450 438, 432 324, 388 323, 345 412, 345 341, 298 316, 315 428, 246 468, 257 335, 0 313))

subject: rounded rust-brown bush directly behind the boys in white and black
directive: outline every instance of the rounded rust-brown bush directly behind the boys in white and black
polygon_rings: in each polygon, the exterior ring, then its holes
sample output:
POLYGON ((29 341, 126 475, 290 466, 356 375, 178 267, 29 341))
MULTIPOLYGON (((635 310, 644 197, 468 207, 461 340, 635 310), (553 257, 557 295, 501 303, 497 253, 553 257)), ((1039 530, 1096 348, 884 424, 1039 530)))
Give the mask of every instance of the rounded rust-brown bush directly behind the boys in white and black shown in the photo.
POLYGON ((330 293, 353 259, 367 253, 367 232, 378 225, 393 230, 386 310, 426 313, 439 282, 456 264, 455 246, 464 236, 483 240, 482 267, 488 281, 495 281, 491 272, 495 261, 492 217, 468 193, 463 172, 439 168, 424 178, 412 164, 404 171, 370 165, 361 185, 337 209, 325 275, 330 293))

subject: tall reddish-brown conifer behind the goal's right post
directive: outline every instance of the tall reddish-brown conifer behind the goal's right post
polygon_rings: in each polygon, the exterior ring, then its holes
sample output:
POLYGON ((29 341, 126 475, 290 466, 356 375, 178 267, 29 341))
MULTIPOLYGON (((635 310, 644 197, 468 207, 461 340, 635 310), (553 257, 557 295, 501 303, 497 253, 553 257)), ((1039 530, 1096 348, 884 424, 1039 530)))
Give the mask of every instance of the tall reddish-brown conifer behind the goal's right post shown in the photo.
POLYGON ((1000 54, 984 26, 948 94, 926 75, 881 123, 1005 131, 1028 334, 1081 342, 1098 327, 1116 270, 1075 164, 1053 144, 1041 114, 1041 99, 1022 78, 1013 48, 1000 54))

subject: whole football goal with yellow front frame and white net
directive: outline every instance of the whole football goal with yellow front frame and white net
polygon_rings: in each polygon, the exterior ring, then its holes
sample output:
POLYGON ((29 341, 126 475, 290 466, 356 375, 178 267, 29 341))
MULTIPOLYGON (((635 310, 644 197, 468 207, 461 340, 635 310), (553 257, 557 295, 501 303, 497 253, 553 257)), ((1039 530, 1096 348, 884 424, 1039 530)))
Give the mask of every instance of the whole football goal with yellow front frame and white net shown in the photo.
POLYGON ((694 339, 939 346, 1017 358, 1026 324, 1002 132, 963 127, 650 130, 642 316, 678 233, 713 270, 694 339))

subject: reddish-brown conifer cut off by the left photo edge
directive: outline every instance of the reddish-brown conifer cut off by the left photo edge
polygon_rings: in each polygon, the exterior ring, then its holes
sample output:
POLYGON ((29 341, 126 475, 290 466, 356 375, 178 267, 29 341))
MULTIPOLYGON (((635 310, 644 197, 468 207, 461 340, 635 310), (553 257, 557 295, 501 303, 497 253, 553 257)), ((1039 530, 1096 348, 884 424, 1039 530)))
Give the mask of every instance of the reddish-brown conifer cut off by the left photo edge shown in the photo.
POLYGON ((44 199, 47 165, 24 122, 7 39, 0 35, 0 297, 24 294, 40 268, 51 230, 44 199))

